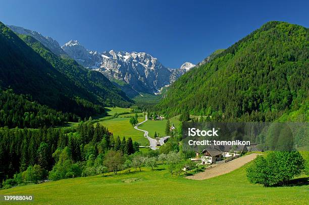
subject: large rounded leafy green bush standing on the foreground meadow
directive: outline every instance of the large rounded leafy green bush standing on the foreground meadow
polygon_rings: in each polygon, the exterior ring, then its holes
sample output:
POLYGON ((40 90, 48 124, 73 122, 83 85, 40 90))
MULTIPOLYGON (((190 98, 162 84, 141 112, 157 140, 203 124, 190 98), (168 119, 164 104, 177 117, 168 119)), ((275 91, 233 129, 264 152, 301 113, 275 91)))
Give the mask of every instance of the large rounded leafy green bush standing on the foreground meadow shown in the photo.
POLYGON ((272 152, 266 158, 258 156, 247 168, 251 183, 264 186, 288 184, 304 170, 304 159, 297 151, 272 152))

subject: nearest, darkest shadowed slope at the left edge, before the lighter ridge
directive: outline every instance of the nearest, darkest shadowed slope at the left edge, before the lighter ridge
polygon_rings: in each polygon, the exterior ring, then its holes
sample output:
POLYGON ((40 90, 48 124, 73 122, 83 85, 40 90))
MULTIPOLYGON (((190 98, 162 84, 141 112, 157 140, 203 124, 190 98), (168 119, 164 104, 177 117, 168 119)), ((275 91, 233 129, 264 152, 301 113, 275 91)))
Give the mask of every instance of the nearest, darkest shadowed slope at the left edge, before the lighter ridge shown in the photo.
POLYGON ((104 112, 104 104, 92 103, 93 94, 80 89, 1 22, 0 50, 5 51, 0 53, 0 88, 30 94, 41 104, 81 117, 104 112))

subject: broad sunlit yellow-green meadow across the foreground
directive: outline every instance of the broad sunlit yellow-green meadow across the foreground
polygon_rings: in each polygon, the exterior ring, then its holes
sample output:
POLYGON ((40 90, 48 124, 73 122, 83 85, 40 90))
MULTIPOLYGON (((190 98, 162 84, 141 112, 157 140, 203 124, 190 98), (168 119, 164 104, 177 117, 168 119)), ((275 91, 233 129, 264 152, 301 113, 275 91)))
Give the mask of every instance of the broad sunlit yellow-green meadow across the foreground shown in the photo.
POLYGON ((142 168, 142 172, 133 169, 118 175, 65 179, 0 190, 0 194, 31 194, 31 204, 308 204, 308 185, 253 185, 246 179, 246 166, 198 181, 171 177, 161 165, 155 171, 142 168))

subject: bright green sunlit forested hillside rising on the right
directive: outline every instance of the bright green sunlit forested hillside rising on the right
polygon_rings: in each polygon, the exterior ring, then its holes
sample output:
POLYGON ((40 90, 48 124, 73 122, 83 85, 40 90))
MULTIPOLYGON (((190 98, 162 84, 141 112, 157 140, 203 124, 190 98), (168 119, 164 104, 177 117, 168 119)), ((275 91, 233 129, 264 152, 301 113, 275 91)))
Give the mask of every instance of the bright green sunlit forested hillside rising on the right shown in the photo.
MULTIPOLYGON (((218 120, 272 121, 306 106, 307 28, 269 22, 177 80, 157 109, 218 120)), ((301 113, 300 113, 301 114, 301 113)))

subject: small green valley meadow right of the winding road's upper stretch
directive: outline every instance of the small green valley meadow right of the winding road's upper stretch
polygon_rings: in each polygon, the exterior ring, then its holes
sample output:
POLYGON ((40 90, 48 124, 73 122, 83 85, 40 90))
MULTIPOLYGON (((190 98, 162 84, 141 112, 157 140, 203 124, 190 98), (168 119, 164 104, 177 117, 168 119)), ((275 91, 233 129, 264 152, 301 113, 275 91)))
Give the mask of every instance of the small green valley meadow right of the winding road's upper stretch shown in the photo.
MULTIPOLYGON (((179 116, 170 118, 171 126, 174 123, 176 129, 178 128, 179 124, 181 123, 179 120, 179 116)), ((149 131, 149 136, 153 138, 155 135, 155 131, 157 134, 159 133, 160 136, 165 136, 165 127, 166 127, 167 120, 148 120, 144 122, 139 128, 149 131)))

